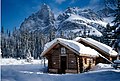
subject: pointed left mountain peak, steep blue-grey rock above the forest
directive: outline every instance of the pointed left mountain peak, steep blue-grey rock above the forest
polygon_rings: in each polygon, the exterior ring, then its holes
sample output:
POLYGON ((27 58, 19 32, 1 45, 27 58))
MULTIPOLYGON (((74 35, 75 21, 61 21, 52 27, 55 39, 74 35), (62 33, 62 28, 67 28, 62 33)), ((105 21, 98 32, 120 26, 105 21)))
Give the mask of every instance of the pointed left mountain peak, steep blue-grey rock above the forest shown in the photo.
POLYGON ((41 9, 29 16, 20 26, 21 31, 29 32, 41 32, 46 34, 46 29, 50 29, 55 24, 54 14, 52 13, 50 7, 46 4, 41 6, 41 9))

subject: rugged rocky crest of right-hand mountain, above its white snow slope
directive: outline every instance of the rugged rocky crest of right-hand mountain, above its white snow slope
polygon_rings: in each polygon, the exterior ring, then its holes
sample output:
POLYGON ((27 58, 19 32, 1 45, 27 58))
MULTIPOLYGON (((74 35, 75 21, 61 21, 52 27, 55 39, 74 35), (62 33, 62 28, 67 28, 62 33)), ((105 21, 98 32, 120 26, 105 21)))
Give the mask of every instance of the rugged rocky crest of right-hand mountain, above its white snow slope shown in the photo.
POLYGON ((60 14, 58 16, 58 20, 60 21, 64 21, 65 19, 67 19, 68 17, 70 17, 71 15, 79 15, 85 18, 88 18, 90 20, 102 20, 102 18, 96 14, 94 11, 92 11, 91 9, 80 9, 78 7, 74 7, 74 8, 67 8, 65 10, 65 12, 63 12, 62 14, 60 14))

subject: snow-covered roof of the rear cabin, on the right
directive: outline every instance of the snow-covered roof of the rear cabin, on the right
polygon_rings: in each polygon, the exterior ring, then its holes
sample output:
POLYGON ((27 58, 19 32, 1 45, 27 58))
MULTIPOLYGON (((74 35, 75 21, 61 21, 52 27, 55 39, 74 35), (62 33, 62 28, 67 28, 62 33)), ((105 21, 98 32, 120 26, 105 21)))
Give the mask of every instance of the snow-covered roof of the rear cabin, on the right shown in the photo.
POLYGON ((94 39, 91 39, 91 38, 76 37, 74 39, 74 41, 83 41, 83 42, 86 42, 87 44, 89 44, 91 46, 95 46, 95 47, 99 48, 100 50, 104 51, 105 54, 108 54, 110 56, 116 56, 118 54, 110 46, 108 46, 106 44, 103 44, 101 42, 98 42, 98 41, 96 41, 94 39))

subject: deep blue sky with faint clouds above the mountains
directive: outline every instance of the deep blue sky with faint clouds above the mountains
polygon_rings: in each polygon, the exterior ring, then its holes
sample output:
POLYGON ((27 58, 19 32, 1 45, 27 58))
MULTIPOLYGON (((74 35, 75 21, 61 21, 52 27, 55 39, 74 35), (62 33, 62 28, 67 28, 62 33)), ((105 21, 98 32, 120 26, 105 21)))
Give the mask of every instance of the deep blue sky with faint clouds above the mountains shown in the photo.
MULTIPOLYGON (((1 26, 5 30, 13 31, 19 28, 25 18, 40 10, 40 6, 46 3, 57 16, 67 7, 89 8, 95 7, 102 0, 1 0, 1 26)), ((1 29, 0 29, 1 30, 1 29)))

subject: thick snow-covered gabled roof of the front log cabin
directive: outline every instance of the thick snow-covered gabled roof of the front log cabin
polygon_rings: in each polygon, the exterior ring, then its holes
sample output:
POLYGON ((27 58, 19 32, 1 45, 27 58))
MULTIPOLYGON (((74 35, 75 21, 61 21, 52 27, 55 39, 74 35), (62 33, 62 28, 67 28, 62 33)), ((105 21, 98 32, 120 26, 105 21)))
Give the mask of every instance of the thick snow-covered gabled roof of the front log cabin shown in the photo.
POLYGON ((83 44, 80 44, 73 40, 66 40, 62 38, 56 38, 53 41, 45 44, 44 51, 42 52, 41 56, 44 56, 48 51, 50 51, 56 44, 61 44, 68 49, 71 49, 76 54, 80 56, 98 56, 98 52, 90 47, 86 47, 83 44))

